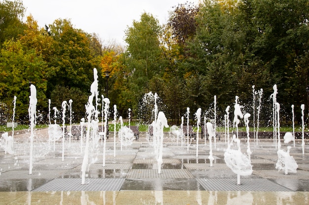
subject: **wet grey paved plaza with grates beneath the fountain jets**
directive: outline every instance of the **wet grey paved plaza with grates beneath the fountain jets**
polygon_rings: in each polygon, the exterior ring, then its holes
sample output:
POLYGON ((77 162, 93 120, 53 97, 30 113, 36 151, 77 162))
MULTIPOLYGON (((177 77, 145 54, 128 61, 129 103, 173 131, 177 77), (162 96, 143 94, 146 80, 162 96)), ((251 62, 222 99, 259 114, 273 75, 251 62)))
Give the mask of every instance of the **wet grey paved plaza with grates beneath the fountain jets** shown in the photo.
MULTIPOLYGON (((83 151, 80 141, 48 143, 47 130, 36 131, 33 174, 29 175, 29 133, 15 134, 14 154, 0 148, 0 205, 16 204, 92 204, 92 205, 308 205, 309 147, 305 154, 301 140, 292 146, 290 155, 298 163, 297 173, 284 175, 275 169, 277 153, 272 139, 251 139, 253 174, 237 176, 227 167, 224 139, 213 144, 213 166, 210 167, 209 142, 199 139, 187 149, 181 142, 164 136, 161 174, 154 148, 144 133, 130 146, 116 142, 113 133, 106 143, 106 165, 103 167, 103 145, 90 143, 89 171, 81 185, 83 151)), ((117 139, 118 140, 118 139, 117 139)), ((283 141, 283 140, 282 140, 283 141)), ((83 142, 83 147, 85 142, 83 142)), ((283 142, 281 148, 286 150, 283 142)), ((246 152, 246 140, 241 150, 246 152)))

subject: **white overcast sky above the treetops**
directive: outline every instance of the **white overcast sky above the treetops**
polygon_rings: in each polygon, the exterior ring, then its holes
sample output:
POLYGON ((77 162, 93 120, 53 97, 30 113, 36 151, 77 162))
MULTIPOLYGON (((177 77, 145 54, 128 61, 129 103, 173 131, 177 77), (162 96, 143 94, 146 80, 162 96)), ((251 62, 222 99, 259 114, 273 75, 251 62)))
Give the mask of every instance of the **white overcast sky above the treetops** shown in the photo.
MULTIPOLYGON (((124 30, 139 21, 143 12, 165 24, 172 6, 187 0, 23 0, 26 16, 32 14, 39 27, 56 19, 71 19, 77 29, 97 33, 103 42, 124 45, 124 30)), ((199 0, 188 0, 197 4, 199 0)))

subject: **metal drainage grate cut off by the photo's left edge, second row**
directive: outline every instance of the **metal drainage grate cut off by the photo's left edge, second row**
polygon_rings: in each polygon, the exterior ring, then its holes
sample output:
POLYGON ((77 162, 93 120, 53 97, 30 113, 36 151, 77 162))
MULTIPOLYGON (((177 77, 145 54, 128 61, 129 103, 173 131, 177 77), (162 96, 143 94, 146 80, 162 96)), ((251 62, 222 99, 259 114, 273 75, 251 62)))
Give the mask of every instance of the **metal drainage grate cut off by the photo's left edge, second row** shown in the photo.
POLYGON ((33 170, 29 175, 29 170, 12 170, 0 175, 0 179, 29 179, 29 178, 57 178, 67 170, 33 170))

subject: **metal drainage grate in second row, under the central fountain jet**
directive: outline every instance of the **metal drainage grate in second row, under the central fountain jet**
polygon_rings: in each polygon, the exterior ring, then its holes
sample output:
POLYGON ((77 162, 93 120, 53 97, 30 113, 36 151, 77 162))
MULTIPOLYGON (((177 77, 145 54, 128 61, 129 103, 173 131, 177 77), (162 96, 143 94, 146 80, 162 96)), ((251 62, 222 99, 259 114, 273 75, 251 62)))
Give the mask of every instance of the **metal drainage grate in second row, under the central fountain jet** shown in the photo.
POLYGON ((162 169, 161 174, 157 170, 129 170, 127 178, 193 178, 186 169, 162 169))

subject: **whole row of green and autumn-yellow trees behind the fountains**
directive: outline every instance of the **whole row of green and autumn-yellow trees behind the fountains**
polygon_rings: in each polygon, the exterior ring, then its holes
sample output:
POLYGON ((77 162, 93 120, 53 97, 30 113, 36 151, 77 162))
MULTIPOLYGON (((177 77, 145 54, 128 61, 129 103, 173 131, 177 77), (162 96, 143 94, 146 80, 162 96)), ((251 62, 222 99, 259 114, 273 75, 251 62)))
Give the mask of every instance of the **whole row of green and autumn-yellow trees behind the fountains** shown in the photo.
MULTIPOLYGON (((264 89, 265 108, 272 105, 274 84, 283 110, 308 105, 308 0, 204 0, 172 9, 165 25, 143 13, 127 27, 127 45, 120 47, 104 46, 98 35, 74 28, 69 20, 39 28, 29 16, 22 23, 22 2, 1 1, 0 101, 10 110, 16 95, 17 118, 28 120, 33 83, 41 111, 47 112, 47 99, 56 107, 73 99, 79 121, 96 67, 101 94, 104 71, 111 72, 109 98, 123 117, 128 108, 137 116, 139 102, 150 91, 158 93, 176 123, 187 107, 200 107, 211 118, 207 111, 214 95, 222 118, 235 95, 252 114, 253 85, 264 89)), ((264 110, 267 122, 272 115, 264 110)))

